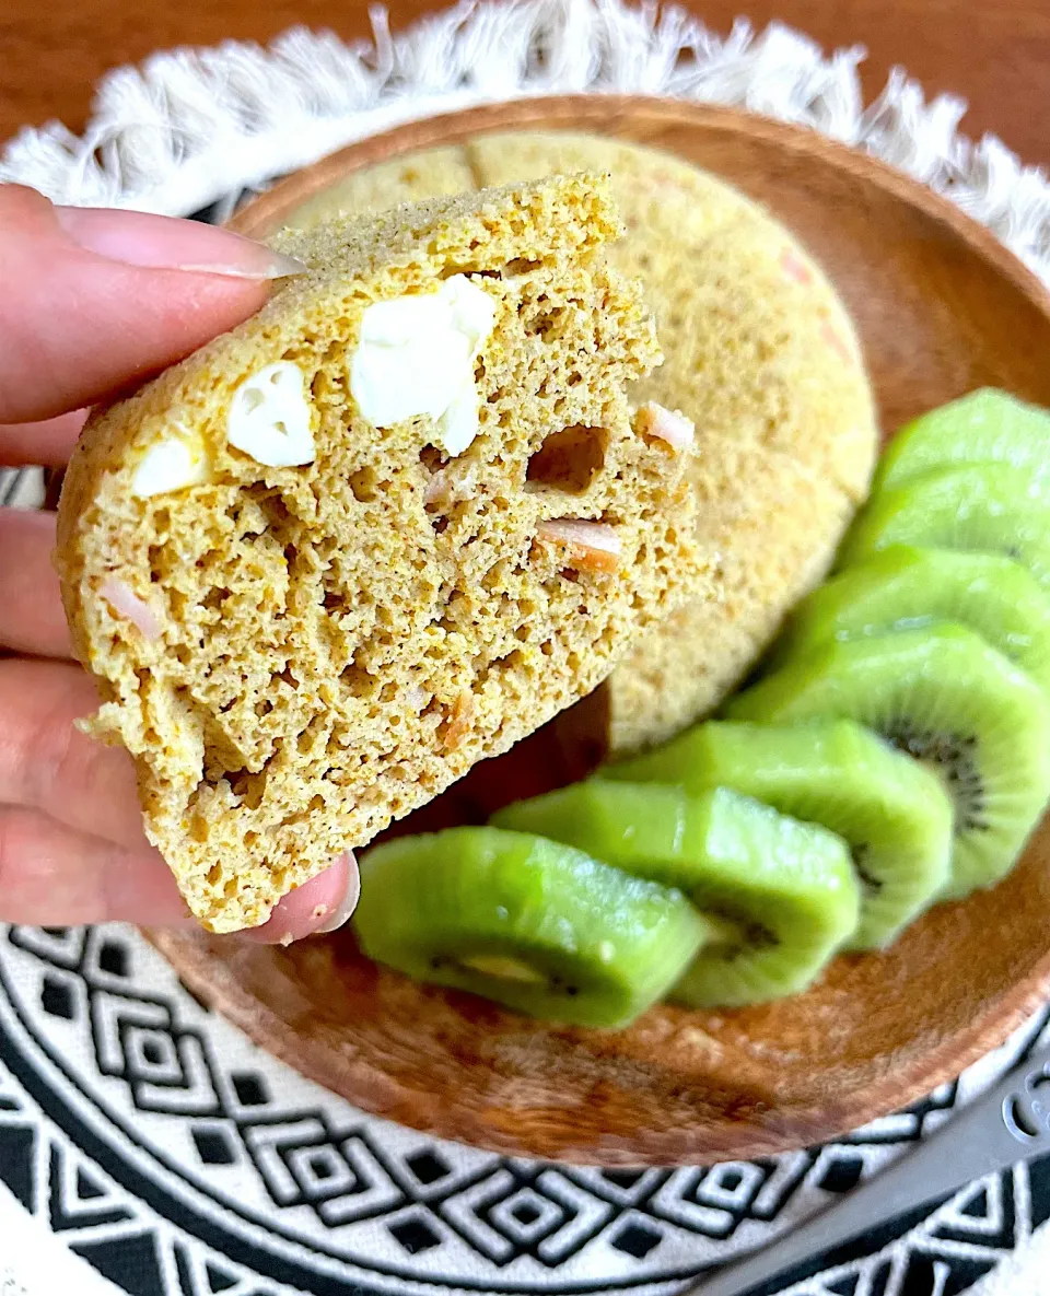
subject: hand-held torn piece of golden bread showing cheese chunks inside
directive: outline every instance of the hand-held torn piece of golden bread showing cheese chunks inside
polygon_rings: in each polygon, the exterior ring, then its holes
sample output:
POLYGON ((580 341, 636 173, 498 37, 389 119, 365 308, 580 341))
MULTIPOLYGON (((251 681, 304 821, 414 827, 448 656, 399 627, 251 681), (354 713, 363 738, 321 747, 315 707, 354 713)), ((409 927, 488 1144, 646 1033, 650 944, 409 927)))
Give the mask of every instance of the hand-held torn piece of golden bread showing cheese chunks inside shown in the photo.
POLYGON ((576 176, 290 231, 309 273, 88 422, 57 564, 89 731, 213 931, 703 592, 690 450, 626 397, 659 350, 618 228, 576 176))

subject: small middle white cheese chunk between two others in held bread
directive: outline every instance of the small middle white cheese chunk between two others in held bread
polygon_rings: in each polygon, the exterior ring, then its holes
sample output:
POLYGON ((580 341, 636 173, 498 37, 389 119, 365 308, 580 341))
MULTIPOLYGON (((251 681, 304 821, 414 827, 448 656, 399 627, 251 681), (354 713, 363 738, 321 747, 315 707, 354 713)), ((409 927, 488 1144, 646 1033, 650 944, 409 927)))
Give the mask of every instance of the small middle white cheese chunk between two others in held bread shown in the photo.
POLYGON ((312 464, 318 450, 302 369, 290 360, 267 364, 233 393, 226 420, 231 446, 267 468, 312 464))

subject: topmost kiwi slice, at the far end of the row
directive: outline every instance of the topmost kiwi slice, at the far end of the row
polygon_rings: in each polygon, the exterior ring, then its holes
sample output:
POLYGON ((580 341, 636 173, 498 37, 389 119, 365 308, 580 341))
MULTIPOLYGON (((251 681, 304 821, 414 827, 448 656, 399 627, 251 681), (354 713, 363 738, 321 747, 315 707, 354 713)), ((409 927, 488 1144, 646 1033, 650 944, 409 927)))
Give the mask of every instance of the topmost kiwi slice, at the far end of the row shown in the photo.
POLYGON ((1003 463, 1050 477, 1050 413, 1006 391, 983 388, 901 428, 883 452, 875 481, 901 482, 958 463, 1003 463))

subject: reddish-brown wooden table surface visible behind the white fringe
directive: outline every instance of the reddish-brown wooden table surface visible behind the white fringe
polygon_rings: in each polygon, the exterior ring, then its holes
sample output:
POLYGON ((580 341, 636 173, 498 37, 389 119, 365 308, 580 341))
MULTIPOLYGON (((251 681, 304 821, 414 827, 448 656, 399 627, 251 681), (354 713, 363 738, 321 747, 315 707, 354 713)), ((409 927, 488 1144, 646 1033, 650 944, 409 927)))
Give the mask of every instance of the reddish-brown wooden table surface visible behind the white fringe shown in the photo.
MULTIPOLYGON (((391 0, 394 27, 443 0, 391 0)), ((970 100, 966 128, 993 131, 1027 161, 1050 162, 1050 0, 690 0, 717 31, 745 13, 782 18, 826 48, 870 51, 869 97, 893 64, 929 92, 970 100)), ((0 0, 0 140, 58 118, 80 130, 109 67, 179 44, 268 40, 294 22, 368 31, 366 0, 0 0)))

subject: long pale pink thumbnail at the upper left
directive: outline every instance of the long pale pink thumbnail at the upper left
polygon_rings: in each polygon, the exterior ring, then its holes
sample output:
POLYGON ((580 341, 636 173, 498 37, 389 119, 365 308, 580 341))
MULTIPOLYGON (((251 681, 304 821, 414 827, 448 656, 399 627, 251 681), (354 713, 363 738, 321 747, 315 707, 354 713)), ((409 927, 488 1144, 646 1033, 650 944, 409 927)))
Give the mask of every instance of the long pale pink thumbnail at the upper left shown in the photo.
POLYGON ((62 232, 86 251, 124 266, 231 279, 283 279, 310 267, 251 238, 198 220, 110 207, 56 207, 62 232))

